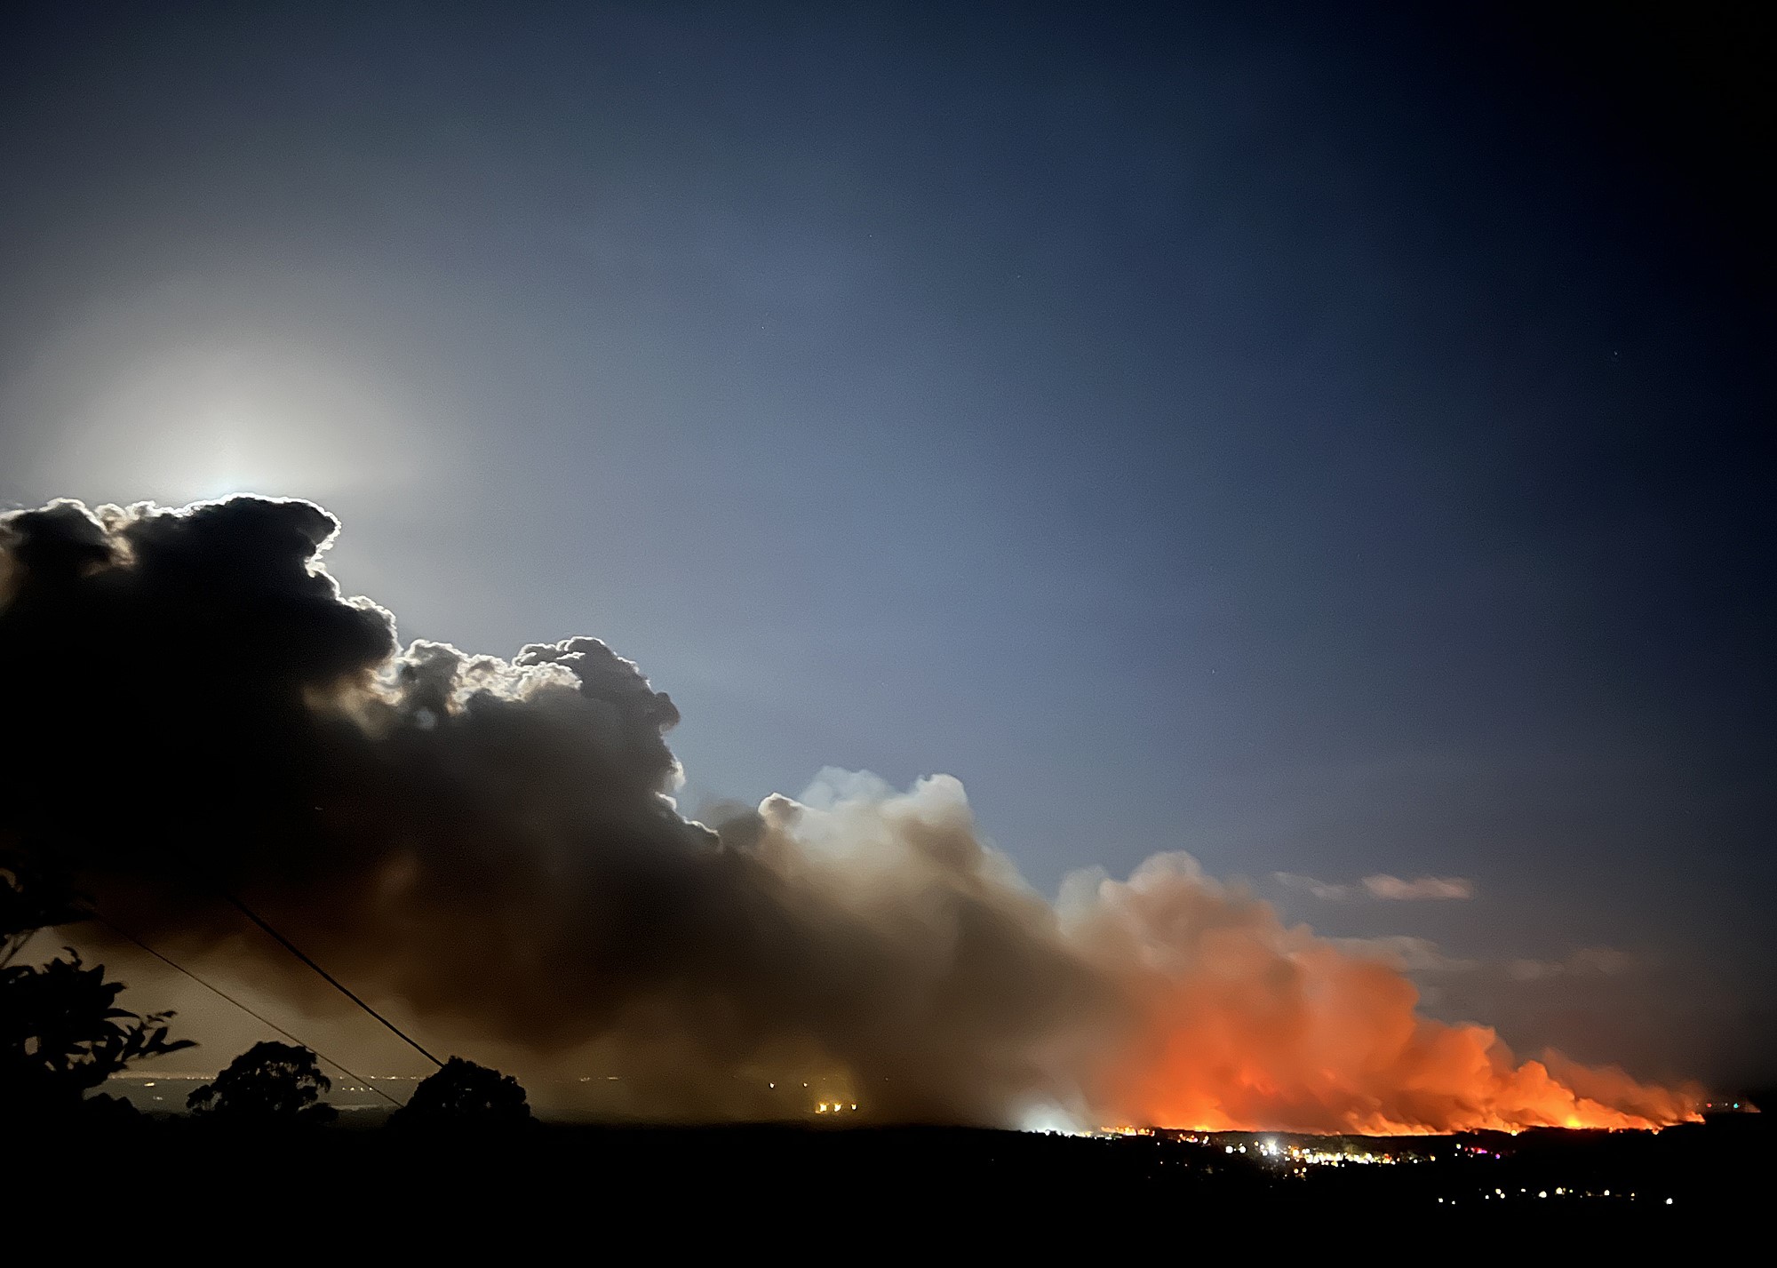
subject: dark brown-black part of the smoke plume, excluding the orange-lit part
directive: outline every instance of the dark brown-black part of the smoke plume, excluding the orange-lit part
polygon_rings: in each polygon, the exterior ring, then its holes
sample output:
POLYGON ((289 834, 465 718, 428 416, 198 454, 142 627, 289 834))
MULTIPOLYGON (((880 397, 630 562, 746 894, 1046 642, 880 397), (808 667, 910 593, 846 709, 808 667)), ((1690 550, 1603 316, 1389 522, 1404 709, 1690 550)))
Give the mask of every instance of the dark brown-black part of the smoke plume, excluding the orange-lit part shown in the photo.
POLYGON ((633 662, 398 650, 320 567, 336 529, 245 497, 5 517, 4 829, 163 941, 227 938, 238 892, 439 1026, 633 1048, 693 1112, 761 1058, 842 1067, 894 1117, 997 1119, 1041 1082, 1027 1048, 1095 979, 960 797, 903 815, 876 874, 805 856, 782 799, 723 844, 677 813, 679 712, 633 662))

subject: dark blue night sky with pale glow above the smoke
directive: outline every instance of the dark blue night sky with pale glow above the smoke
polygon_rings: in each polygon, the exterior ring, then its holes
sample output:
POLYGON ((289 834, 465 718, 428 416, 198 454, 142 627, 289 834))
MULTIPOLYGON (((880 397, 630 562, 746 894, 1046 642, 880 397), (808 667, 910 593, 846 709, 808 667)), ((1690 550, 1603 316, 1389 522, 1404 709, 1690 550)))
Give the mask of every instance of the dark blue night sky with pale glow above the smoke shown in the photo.
POLYGON ((403 636, 636 659, 691 810, 945 771, 1768 1073, 1745 32, 359 9, 9 11, 0 501, 313 497, 403 636))

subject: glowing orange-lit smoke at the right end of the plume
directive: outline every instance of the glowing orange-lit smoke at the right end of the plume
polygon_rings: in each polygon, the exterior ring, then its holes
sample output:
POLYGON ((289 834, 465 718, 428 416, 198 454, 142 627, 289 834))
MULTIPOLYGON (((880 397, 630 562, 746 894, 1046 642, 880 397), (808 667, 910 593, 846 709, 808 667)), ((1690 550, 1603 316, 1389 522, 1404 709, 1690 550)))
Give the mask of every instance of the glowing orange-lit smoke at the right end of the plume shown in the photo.
POLYGON ((1285 927, 1189 856, 1077 892, 1064 918, 1132 1002, 1130 1039, 1093 1098, 1111 1122, 1400 1135, 1697 1117, 1695 1089, 1555 1053, 1518 1064, 1487 1026, 1418 1016, 1398 968, 1285 927))

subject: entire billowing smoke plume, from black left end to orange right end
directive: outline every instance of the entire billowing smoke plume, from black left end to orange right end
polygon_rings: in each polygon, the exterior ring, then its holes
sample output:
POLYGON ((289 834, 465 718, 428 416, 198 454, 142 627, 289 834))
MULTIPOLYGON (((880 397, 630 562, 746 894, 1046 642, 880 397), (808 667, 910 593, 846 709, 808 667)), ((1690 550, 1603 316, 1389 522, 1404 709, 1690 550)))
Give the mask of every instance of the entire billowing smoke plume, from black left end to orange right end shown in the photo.
MULTIPOLYGON (((1688 1094, 1516 1064, 1398 968, 1160 856, 1036 895, 947 776, 828 773, 714 829, 677 813, 666 694, 604 643, 396 645, 302 501, 0 517, 0 845, 203 955, 259 907, 428 1034, 661 1117, 1454 1129, 1670 1122, 1688 1094)), ((249 943, 231 943, 242 954, 249 943)), ((290 957, 265 971, 315 1007, 290 957)), ((258 952, 251 952, 258 954, 258 952)))

